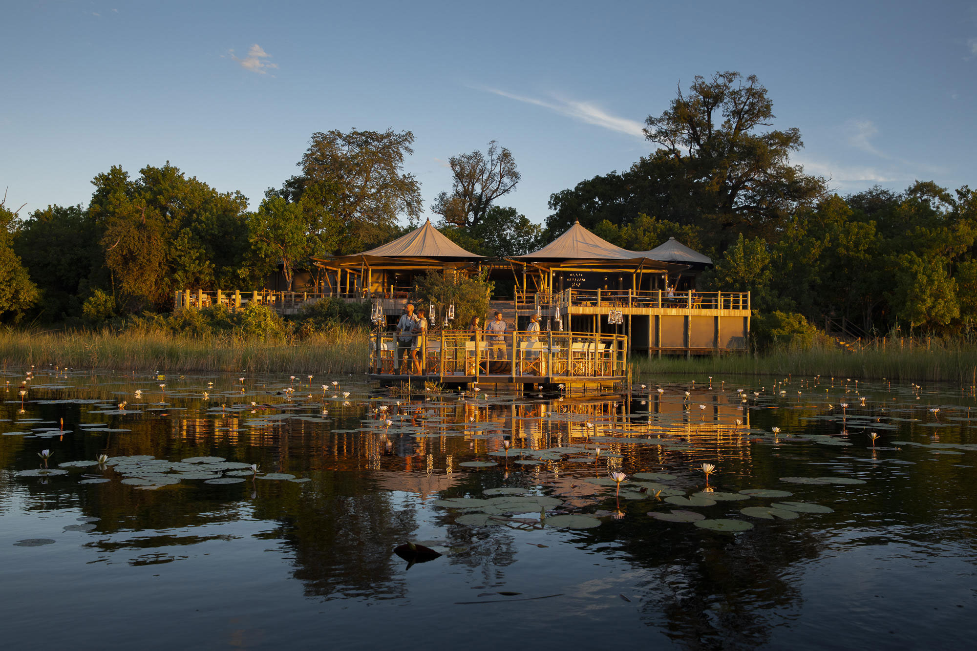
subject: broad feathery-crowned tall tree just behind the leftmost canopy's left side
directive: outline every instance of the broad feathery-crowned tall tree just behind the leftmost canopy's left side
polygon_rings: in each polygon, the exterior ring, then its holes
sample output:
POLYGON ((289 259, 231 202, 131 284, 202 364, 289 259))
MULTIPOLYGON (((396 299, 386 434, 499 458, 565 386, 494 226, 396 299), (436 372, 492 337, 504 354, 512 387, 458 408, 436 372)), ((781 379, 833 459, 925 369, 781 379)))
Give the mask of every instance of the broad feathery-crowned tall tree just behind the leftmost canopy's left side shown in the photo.
POLYGON ((299 200, 312 189, 319 206, 348 233, 344 248, 362 250, 385 239, 401 215, 411 224, 420 217, 420 185, 404 173, 413 142, 411 132, 393 129, 314 133, 298 163, 303 176, 290 179, 280 192, 299 200))

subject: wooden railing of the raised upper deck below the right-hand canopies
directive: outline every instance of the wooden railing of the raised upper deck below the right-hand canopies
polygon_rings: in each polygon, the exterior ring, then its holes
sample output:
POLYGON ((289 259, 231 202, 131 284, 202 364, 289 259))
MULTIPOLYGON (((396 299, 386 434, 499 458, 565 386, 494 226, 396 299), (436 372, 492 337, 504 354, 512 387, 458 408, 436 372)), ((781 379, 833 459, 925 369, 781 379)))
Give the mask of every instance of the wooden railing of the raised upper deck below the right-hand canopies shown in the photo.
POLYGON ((556 294, 516 292, 516 309, 568 307, 680 308, 686 310, 749 310, 748 291, 668 291, 666 289, 565 289, 556 294), (533 298, 533 296, 538 298, 533 298))

